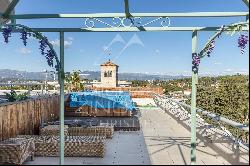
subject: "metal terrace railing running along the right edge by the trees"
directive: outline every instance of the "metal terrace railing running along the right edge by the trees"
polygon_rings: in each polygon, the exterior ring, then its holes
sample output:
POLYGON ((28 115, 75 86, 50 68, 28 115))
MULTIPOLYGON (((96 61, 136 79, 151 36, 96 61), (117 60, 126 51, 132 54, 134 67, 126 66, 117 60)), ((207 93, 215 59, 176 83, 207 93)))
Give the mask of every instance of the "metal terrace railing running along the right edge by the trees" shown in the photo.
MULTIPOLYGON (((164 95, 154 94, 154 96, 158 107, 190 130, 191 106, 164 95)), ((211 147, 232 164, 249 163, 249 126, 202 109, 197 109, 196 116, 196 132, 199 140, 197 144, 211 147), (229 128, 236 130, 236 135, 232 134, 229 128), (247 139, 240 138, 239 133, 244 133, 247 139)))

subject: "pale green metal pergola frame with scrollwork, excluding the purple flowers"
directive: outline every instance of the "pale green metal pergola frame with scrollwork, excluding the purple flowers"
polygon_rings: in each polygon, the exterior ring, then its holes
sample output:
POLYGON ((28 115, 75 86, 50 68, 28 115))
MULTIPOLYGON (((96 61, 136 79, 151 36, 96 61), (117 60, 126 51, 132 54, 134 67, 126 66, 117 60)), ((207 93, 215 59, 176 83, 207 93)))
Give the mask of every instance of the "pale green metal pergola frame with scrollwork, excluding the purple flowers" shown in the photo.
MULTIPOLYGON (((172 27, 170 26, 171 18, 208 18, 208 17, 244 17, 241 25, 242 31, 249 30, 249 12, 189 12, 189 13, 131 13, 129 8, 129 0, 124 0, 123 13, 92 13, 92 14, 14 14, 14 9, 20 0, 0 0, 0 20, 5 20, 1 27, 12 26, 13 32, 20 32, 20 28, 16 24, 17 20, 29 19, 68 19, 68 18, 82 18, 85 19, 85 27, 81 28, 26 28, 28 31, 34 33, 40 32, 56 32, 60 34, 60 62, 59 64, 59 83, 60 83, 60 164, 64 164, 64 33, 65 32, 165 32, 165 31, 186 31, 192 33, 192 54, 197 54, 197 40, 200 32, 217 32, 208 40, 208 43, 202 50, 206 51, 207 46, 212 39, 214 40, 220 33, 222 33, 221 25, 211 27, 172 27), (103 20, 105 19, 105 20, 103 20), (151 19, 152 21, 146 21, 151 19), (10 23, 6 20, 11 20, 10 23), (112 23, 108 23, 111 20, 112 23), (159 26, 155 25, 159 22, 159 26), (99 26, 97 26, 99 24, 99 26), (101 25, 101 26, 100 26, 101 25)), ((249 8, 249 0, 239 0, 239 3, 244 3, 249 8)), ((3 21, 2 21, 3 22, 3 21)), ((21 26, 21 25, 20 25, 21 26)), ((234 24, 225 26, 223 31, 231 31, 234 24)), ((22 28, 25 28, 21 26, 22 28)), ((1 30, 1 29, 0 29, 1 30)), ((201 52, 202 52, 201 51, 201 52)), ((203 58, 201 55, 199 58, 203 58)), ((191 164, 196 163, 196 90, 198 84, 198 72, 193 71, 192 74, 192 108, 191 108, 191 164)))

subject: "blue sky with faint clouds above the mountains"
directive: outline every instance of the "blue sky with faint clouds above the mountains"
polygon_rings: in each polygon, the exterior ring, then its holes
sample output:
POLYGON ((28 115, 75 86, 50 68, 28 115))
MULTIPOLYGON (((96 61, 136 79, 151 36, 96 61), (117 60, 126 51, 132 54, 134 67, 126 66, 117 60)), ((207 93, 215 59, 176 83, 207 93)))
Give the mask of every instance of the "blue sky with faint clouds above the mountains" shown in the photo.
MULTIPOLYGON (((130 12, 240 12, 248 11, 241 0, 130 0, 130 12)), ((123 0, 21 0, 16 14, 38 13, 122 13, 123 0)), ((101 19, 110 23, 110 20, 101 19)), ((151 19, 142 19, 150 22, 151 19)), ((175 26, 221 26, 245 20, 237 18, 170 18, 175 26)), ((85 26, 84 19, 18 20, 29 27, 85 26)), ((125 22, 126 24, 127 22, 125 22)), ((102 26, 102 24, 96 24, 102 26)), ((161 26, 161 21, 151 26, 161 26)), ((198 50, 214 32, 198 33, 198 50)), ((59 35, 44 33, 59 55, 59 35)), ((169 75, 191 74, 191 32, 137 32, 137 33, 65 33, 65 70, 94 70, 111 59, 120 66, 120 72, 169 75)), ((200 73, 249 73, 248 47, 245 54, 237 47, 239 33, 224 34, 216 41, 211 57, 202 60, 200 73)), ((38 41, 30 38, 23 46, 20 34, 13 34, 5 44, 0 35, 0 69, 23 71, 52 70, 40 54, 38 41)))

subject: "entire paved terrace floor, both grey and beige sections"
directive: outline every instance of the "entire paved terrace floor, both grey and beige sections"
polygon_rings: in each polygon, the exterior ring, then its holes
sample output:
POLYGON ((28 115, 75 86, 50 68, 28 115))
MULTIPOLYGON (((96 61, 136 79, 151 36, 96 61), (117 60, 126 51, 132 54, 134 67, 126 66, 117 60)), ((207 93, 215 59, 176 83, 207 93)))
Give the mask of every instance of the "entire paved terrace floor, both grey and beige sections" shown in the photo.
MULTIPOLYGON (((116 131, 107 140, 104 158, 65 158, 74 165, 185 165, 190 164, 190 132, 160 109, 142 110, 141 131, 116 131)), ((199 142, 199 141, 198 141, 199 142)), ((232 154, 234 155, 234 154, 232 154)), ((26 165, 58 164, 59 158, 36 157, 26 165)), ((197 164, 224 165, 227 161, 201 142, 197 147, 197 164)))

